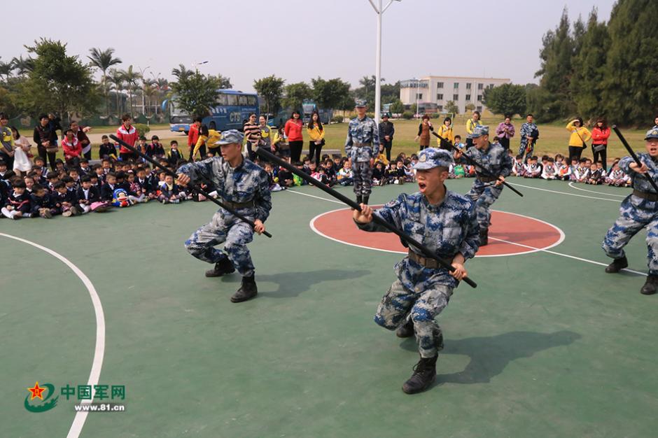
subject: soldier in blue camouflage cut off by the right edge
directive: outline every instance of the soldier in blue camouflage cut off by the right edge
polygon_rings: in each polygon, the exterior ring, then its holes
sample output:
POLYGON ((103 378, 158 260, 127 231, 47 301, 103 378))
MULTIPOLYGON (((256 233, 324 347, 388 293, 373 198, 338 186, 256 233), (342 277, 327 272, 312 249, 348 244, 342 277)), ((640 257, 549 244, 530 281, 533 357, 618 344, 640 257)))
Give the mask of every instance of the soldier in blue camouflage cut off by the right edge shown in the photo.
POLYGON ((645 136, 647 153, 638 155, 642 166, 632 157, 619 161, 619 169, 633 178, 633 193, 622 201, 619 219, 608 229, 603 239, 603 250, 612 263, 605 268, 609 274, 628 267, 624 246, 640 229, 647 228, 647 258, 649 275, 640 289, 644 295, 656 293, 658 286, 658 193, 648 178, 658 181, 658 129, 650 129, 645 136))

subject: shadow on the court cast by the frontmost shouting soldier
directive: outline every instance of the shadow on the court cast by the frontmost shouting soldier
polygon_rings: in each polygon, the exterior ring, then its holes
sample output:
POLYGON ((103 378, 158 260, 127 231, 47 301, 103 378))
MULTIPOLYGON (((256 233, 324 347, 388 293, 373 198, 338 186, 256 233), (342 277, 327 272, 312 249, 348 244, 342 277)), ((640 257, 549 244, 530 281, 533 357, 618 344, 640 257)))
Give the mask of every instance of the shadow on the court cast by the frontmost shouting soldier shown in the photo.
MULTIPOLYGON (((446 339, 445 347, 439 353, 437 369, 440 370, 441 355, 444 354, 467 355, 470 362, 463 371, 437 374, 435 385, 489 383, 513 360, 530 358, 539 351, 572 344, 580 338, 580 334, 562 330, 553 333, 508 332, 491 337, 446 339)), ((405 339, 402 348, 417 351, 415 339, 405 339)))

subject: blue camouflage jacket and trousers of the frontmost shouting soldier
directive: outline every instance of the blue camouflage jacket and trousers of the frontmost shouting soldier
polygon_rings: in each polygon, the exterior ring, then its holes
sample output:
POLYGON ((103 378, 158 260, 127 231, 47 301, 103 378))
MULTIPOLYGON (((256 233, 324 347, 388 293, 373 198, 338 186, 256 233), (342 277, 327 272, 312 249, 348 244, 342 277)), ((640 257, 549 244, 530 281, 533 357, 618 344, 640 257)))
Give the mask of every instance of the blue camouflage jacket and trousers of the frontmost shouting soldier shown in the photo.
MULTIPOLYGON (((451 262, 457 253, 468 260, 477 252, 479 228, 475 205, 455 192, 448 190, 438 205, 429 204, 419 192, 403 193, 374 214, 402 229, 443 260, 451 262)), ((389 232, 374 222, 357 225, 368 232, 389 232)), ((408 247, 405 241, 402 245, 408 247)), ((412 249, 421 253, 418 248, 412 249)), ((408 317, 412 318, 419 353, 423 358, 431 358, 437 354, 440 334, 434 318, 447 306, 457 281, 447 269, 426 268, 409 257, 395 264, 395 275, 398 279, 381 299, 374 322, 394 330, 408 317)))

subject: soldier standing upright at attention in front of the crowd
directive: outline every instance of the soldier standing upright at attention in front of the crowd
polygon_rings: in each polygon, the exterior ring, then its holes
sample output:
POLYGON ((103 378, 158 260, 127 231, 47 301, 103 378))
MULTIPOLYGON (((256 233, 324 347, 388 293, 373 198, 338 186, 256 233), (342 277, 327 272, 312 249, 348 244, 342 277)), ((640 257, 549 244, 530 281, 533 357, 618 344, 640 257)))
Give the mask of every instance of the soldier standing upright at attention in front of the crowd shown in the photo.
POLYGON ((349 121, 345 154, 354 174, 354 193, 358 204, 367 204, 372 188, 372 166, 379 153, 379 128, 365 115, 365 101, 356 101, 357 116, 349 121))

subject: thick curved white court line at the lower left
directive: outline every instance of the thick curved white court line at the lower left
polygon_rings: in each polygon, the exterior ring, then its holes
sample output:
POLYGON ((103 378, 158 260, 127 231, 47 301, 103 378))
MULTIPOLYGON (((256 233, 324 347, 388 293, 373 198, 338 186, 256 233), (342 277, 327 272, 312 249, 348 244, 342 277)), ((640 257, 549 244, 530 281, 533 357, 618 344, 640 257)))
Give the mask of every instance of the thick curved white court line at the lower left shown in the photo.
MULTIPOLYGON (((92 304, 94 304, 94 313, 96 314, 96 347, 94 348, 94 360, 92 361, 92 370, 89 373, 89 380, 87 381, 87 385, 91 385, 92 388, 94 385, 98 384, 98 380, 101 376, 101 368, 103 366, 103 358, 105 355, 105 314, 103 312, 103 305, 101 304, 101 299, 98 297, 98 293, 96 292, 96 288, 94 288, 94 285, 90 281, 90 279, 85 275, 83 271, 80 271, 80 268, 78 268, 73 262, 71 262, 69 259, 64 257, 61 254, 55 253, 55 251, 45 248, 45 246, 41 246, 38 243, 31 242, 29 240, 21 239, 20 237, 12 236, 10 234, 4 234, 0 233, 0 236, 7 237, 8 239, 14 239, 23 243, 27 243, 28 245, 34 246, 34 248, 38 248, 42 251, 45 251, 45 253, 48 253, 52 255, 52 257, 57 258, 60 262, 66 264, 66 266, 73 271, 78 278, 83 282, 85 287, 87 288, 87 291, 89 291, 89 295, 92 299, 92 304)), ((92 398, 94 396, 95 391, 92 390, 92 398)), ((66 438, 78 438, 80 436, 80 432, 82 432, 82 428, 85 425, 85 421, 87 420, 87 414, 89 412, 78 412, 76 413, 76 417, 73 418, 73 423, 71 424, 71 428, 69 429, 69 435, 66 435, 66 438)))

